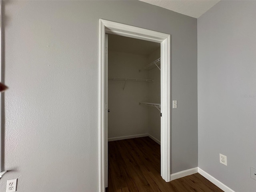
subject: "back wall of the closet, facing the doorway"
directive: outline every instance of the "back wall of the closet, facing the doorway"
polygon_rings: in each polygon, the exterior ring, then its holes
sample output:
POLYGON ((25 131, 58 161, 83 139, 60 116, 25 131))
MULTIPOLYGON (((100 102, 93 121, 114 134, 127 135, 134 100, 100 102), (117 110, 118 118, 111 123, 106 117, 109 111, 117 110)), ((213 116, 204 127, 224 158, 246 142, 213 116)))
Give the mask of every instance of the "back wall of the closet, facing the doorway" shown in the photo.
MULTIPOLYGON (((108 52, 109 77, 147 79, 146 64, 146 55, 108 52)), ((139 102, 148 101, 150 83, 108 81, 108 138, 148 133, 148 108, 139 102)))

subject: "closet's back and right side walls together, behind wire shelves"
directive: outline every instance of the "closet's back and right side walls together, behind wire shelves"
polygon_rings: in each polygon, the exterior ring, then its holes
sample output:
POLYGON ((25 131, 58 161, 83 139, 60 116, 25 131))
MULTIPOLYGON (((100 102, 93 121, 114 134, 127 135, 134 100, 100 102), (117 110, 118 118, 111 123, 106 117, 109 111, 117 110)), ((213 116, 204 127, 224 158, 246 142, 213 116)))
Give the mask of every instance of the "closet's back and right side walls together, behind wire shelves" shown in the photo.
POLYGON ((150 54, 109 48, 108 78, 154 79, 154 82, 108 80, 109 140, 141 134, 150 134, 160 140, 160 111, 139 105, 139 102, 160 103, 160 70, 157 67, 144 69, 157 58, 160 58, 160 48, 150 54))

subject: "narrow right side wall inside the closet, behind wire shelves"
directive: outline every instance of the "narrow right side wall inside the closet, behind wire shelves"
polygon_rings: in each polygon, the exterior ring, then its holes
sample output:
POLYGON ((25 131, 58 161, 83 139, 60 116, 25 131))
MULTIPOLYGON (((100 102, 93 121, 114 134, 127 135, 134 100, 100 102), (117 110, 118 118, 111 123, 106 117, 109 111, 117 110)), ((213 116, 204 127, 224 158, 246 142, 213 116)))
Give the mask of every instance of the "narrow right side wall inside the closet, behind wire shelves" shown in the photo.
MULTIPOLYGON (((160 48, 152 52, 148 56, 148 64, 160 58, 160 48)), ((148 78, 154 79, 154 82, 148 84, 148 102, 161 103, 161 88, 160 88, 160 70, 155 67, 148 70, 148 78)), ((161 112, 155 107, 148 107, 148 133, 154 138, 161 141, 161 112)))

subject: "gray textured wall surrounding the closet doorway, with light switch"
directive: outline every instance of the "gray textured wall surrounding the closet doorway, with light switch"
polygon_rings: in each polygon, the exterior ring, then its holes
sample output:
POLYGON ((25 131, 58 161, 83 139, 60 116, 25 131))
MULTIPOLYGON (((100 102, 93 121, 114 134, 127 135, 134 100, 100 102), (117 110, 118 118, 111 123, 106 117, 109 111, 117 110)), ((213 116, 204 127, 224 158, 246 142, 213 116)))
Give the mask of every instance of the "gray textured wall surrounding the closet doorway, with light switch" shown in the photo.
POLYGON ((198 165, 195 18, 139 1, 4 1, 4 10, 10 172, 0 191, 12 178, 19 192, 98 191, 100 18, 171 34, 172 173, 198 165))

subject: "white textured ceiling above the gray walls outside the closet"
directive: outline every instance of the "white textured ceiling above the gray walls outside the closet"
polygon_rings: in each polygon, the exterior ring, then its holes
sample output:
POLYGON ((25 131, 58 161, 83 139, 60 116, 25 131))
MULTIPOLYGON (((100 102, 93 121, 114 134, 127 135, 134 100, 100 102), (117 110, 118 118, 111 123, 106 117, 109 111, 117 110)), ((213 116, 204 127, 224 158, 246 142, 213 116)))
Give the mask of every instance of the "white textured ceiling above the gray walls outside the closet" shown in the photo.
POLYGON ((140 0, 194 18, 200 17, 220 0, 140 0))

